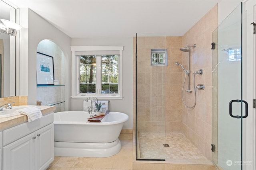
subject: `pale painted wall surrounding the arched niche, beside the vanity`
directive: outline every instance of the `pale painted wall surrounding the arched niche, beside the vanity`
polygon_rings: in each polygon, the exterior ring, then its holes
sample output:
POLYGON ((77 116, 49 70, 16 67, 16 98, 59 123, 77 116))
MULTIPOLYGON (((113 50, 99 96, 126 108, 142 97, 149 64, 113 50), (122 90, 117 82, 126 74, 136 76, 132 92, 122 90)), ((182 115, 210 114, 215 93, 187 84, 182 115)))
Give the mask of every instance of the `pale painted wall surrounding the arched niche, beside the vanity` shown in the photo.
MULTIPOLYGON (((71 38, 54 27, 44 18, 36 14, 29 8, 20 8, 20 46, 17 67, 17 92, 19 96, 28 96, 28 105, 36 105, 37 86, 36 86, 36 51, 38 44, 48 39, 56 43, 64 54, 65 71, 65 110, 71 109, 71 38), (37 23, 37 24, 35 24, 37 23)), ((54 94, 51 94, 54 96, 54 94)), ((52 97, 51 97, 52 98, 52 97)))

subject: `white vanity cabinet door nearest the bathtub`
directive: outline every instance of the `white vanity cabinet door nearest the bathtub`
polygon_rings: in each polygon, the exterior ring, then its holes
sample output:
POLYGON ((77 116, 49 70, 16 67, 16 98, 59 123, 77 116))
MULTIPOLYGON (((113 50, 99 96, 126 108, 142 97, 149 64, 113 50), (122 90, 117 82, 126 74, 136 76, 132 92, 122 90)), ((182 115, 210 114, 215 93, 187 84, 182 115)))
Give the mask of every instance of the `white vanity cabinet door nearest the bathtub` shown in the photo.
POLYGON ((35 135, 36 170, 44 170, 54 160, 54 124, 39 129, 35 135))

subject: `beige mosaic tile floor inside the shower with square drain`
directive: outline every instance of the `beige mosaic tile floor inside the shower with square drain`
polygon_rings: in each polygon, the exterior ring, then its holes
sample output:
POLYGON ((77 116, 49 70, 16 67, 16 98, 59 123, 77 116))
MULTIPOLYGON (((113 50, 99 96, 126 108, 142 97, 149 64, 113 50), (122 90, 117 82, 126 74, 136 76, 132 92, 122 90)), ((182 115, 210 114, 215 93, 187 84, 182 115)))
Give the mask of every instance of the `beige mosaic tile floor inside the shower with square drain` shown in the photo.
POLYGON ((139 132, 140 158, 200 159, 206 157, 181 133, 139 132), (168 144, 170 147, 164 147, 168 144))

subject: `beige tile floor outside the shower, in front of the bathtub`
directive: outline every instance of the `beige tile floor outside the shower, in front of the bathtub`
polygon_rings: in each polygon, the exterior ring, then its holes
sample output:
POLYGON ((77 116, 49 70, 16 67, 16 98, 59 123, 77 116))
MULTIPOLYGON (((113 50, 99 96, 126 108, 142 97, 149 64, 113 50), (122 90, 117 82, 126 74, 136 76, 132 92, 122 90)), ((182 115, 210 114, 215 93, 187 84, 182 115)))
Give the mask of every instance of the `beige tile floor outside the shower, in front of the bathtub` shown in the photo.
POLYGON ((55 156, 54 162, 47 170, 132 170, 132 134, 130 137, 120 135, 119 139, 122 149, 114 156, 107 158, 55 156))

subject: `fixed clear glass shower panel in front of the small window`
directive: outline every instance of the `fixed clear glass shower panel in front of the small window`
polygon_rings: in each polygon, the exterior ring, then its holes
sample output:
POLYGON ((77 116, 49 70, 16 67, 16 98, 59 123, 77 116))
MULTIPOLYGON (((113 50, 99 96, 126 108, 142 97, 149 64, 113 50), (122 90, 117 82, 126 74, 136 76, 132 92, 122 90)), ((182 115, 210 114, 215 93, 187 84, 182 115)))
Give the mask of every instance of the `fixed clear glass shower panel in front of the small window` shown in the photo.
POLYGON ((165 160, 168 50, 158 33, 136 34, 136 159, 165 160))

